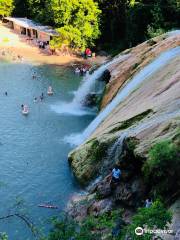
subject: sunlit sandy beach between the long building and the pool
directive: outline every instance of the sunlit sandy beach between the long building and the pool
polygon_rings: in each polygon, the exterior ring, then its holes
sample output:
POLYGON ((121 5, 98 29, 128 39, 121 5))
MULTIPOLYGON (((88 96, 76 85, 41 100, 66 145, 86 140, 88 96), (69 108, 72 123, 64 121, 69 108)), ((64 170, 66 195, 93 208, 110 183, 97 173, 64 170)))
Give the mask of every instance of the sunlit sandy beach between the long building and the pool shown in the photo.
POLYGON ((41 50, 31 42, 27 41, 27 37, 14 33, 11 29, 0 23, 0 58, 7 56, 12 60, 17 60, 18 56, 22 59, 39 63, 39 64, 55 64, 70 65, 75 62, 85 64, 100 64, 105 61, 105 57, 96 57, 84 60, 73 55, 51 55, 47 51, 41 50))

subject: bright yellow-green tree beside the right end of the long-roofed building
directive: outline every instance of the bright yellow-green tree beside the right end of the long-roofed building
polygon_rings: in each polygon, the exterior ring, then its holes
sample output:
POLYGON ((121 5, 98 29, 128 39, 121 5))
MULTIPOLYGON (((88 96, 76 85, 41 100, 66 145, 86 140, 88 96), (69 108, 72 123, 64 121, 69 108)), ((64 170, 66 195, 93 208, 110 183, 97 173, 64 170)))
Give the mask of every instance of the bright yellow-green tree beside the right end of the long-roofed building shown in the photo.
POLYGON ((49 7, 60 37, 52 44, 65 43, 84 49, 99 37, 101 11, 93 0, 51 0, 49 7))

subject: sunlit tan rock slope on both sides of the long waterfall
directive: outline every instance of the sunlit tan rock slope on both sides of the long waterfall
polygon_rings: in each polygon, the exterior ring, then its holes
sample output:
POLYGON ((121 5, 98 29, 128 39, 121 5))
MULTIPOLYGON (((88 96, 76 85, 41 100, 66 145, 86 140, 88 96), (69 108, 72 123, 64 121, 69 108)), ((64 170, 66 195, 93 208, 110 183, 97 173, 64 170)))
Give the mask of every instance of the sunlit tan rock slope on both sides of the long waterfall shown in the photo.
MULTIPOLYGON (((101 107, 104 108, 117 92, 121 91, 122 85, 130 81, 134 74, 156 56, 179 45, 180 35, 176 35, 159 37, 153 42, 151 40, 126 51, 126 53, 130 52, 128 58, 119 64, 112 65, 109 69, 112 77, 107 85, 101 107)), ((86 183, 98 175, 100 166, 106 161, 105 155, 108 148, 112 146, 113 140, 124 132, 128 137, 138 139, 135 154, 145 158, 155 142, 161 139, 174 139, 179 128, 180 56, 176 56, 159 71, 151 74, 113 109, 97 127, 88 142, 70 154, 74 173, 80 182, 86 183), (91 139, 94 141, 93 144, 90 144, 91 139), (106 147, 103 149, 101 146, 106 147)))

